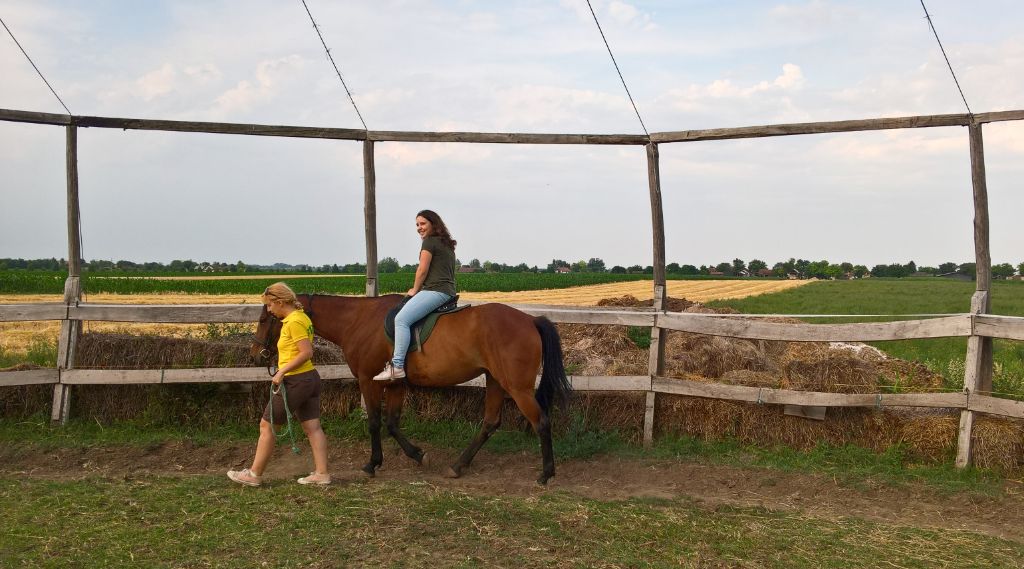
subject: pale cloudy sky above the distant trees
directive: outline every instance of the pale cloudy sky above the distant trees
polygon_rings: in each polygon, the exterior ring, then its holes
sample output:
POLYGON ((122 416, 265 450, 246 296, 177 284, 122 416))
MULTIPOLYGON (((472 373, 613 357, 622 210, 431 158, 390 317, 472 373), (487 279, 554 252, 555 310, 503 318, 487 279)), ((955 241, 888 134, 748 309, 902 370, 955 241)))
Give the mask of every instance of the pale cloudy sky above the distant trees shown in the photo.
MULTIPOLYGON (((306 0, 372 130, 643 134, 585 0, 306 0)), ((593 0, 649 132, 959 114, 920 0, 593 0)), ((1024 3, 928 0, 975 113, 1024 108, 1024 3)), ((300 0, 0 0, 75 115, 361 128, 300 0)), ((0 31, 0 107, 63 113, 0 31)), ((985 125, 993 263, 1024 123, 985 125)), ((964 127, 663 143, 667 261, 973 262, 964 127)), ((79 129, 86 259, 365 262, 358 141, 79 129)), ((0 122, 0 258, 66 258, 65 132, 0 122)), ((649 265, 643 146, 376 144, 381 258, 649 265)))

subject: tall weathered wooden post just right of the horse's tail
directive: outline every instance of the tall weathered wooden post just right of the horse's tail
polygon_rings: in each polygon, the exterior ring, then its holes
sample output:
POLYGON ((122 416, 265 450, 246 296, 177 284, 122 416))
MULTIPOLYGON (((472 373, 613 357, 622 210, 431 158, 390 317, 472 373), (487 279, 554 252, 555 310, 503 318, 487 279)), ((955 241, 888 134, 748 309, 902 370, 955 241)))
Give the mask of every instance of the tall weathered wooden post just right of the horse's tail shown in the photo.
MULTIPOLYGON (((647 144, 647 183, 650 187, 650 217, 654 246, 654 311, 665 310, 665 214, 662 208, 662 175, 658 169, 657 144, 647 144)), ((655 317, 656 318, 656 317, 655 317)), ((647 373, 653 378, 665 374, 665 341, 668 330, 658 327, 657 320, 650 331, 650 355, 647 373)), ((643 420, 643 442, 650 446, 654 442, 654 391, 648 388, 647 406, 643 420)))

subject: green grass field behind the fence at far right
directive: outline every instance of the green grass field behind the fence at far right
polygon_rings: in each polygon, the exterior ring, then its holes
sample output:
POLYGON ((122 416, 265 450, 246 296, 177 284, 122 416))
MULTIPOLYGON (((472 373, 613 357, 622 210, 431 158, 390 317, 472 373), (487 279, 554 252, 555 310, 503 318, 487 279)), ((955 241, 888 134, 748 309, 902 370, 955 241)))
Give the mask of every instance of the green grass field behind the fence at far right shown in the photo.
MULTIPOLYGON (((826 280, 777 294, 709 304, 728 306, 751 314, 964 313, 971 307, 974 287, 974 282, 941 278, 826 280)), ((993 281, 991 297, 993 313, 1024 316, 1024 281, 993 281)), ((892 319, 897 318, 808 318, 807 321, 824 323, 892 319)), ((925 363, 942 374, 946 387, 952 391, 964 387, 966 338, 874 342, 872 345, 890 355, 925 363)), ((993 358, 993 389, 1004 395, 1024 398, 1024 342, 996 340, 993 358)))

